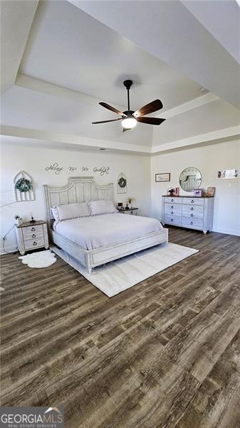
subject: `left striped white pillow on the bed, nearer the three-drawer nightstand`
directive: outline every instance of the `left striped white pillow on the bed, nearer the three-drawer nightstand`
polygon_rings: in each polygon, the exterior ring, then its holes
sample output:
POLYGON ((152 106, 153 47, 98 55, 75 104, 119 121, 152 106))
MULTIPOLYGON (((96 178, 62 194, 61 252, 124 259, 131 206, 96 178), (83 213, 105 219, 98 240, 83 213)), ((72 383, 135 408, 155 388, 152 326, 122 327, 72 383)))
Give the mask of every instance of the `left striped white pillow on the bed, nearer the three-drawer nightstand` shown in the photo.
POLYGON ((87 202, 54 205, 51 210, 53 213, 53 217, 57 221, 90 216, 90 210, 88 208, 87 202))

